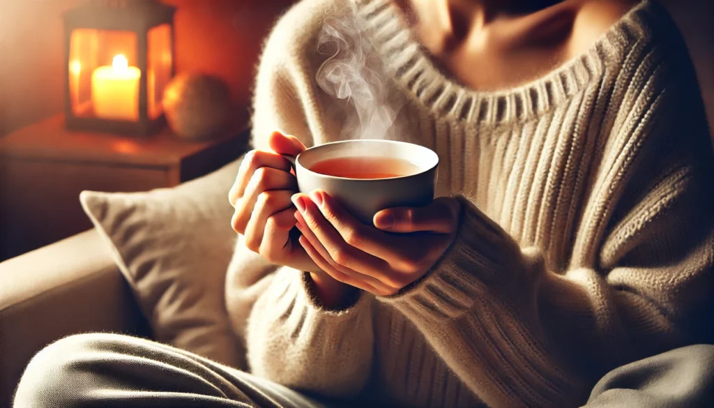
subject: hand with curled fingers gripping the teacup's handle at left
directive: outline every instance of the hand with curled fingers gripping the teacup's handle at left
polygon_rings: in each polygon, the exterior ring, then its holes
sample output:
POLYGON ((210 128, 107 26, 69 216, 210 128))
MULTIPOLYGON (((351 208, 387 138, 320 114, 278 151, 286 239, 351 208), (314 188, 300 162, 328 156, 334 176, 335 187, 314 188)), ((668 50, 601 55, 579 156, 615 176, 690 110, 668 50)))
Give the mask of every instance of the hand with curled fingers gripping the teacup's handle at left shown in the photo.
POLYGON ((281 154, 297 156, 305 146, 295 136, 273 132, 268 139, 273 151, 249 151, 238 170, 228 200, 236 211, 231 224, 245 237, 248 249, 269 262, 302 271, 318 268, 291 237, 295 209, 290 200, 298 189, 291 164, 281 154))

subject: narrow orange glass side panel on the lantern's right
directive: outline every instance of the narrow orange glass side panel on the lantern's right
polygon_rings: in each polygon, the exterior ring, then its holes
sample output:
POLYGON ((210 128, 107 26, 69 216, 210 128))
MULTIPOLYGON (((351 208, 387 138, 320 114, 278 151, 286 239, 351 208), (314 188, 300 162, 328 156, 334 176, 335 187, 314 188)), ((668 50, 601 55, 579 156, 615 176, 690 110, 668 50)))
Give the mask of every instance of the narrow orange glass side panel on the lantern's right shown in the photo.
POLYGON ((164 112, 161 100, 166 84, 171 80, 171 26, 161 24, 149 30, 146 85, 149 99, 149 118, 156 119, 164 112))

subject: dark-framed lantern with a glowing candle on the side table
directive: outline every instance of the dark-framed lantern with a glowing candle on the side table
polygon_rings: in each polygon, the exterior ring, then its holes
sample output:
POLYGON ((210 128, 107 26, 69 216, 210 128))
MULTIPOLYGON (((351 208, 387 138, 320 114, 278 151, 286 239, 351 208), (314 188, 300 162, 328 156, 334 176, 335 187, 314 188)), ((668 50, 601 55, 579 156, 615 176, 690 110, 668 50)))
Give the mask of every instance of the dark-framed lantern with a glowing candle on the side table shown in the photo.
POLYGON ((164 125, 174 7, 90 0, 64 14, 67 129, 145 135, 164 125))

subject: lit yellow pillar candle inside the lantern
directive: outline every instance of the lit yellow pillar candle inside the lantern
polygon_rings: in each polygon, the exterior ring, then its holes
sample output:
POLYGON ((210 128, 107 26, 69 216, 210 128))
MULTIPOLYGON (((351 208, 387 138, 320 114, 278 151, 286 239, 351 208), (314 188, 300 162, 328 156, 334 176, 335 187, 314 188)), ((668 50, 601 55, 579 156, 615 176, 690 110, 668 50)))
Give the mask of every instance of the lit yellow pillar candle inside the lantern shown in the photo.
POLYGON ((91 74, 94 114, 104 119, 139 120, 141 71, 117 55, 111 66, 100 66, 91 74))

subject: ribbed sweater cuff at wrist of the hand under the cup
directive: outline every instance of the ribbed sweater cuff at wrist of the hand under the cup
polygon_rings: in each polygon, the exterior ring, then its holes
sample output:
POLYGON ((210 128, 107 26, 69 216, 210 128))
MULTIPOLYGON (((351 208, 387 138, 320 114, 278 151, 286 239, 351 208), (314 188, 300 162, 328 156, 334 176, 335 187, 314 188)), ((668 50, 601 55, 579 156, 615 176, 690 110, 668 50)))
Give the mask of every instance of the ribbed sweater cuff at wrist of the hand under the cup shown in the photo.
POLYGON ((379 297, 407 315, 455 319, 473 308, 474 299, 489 299, 505 290, 524 259, 518 244, 463 196, 461 222, 453 244, 421 279, 389 297, 379 297))

